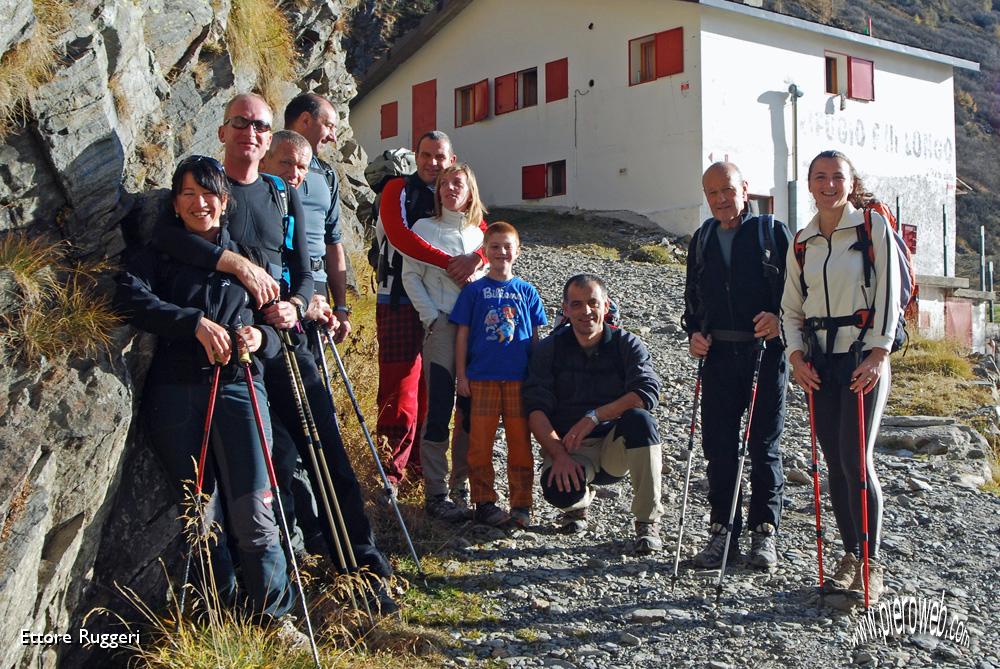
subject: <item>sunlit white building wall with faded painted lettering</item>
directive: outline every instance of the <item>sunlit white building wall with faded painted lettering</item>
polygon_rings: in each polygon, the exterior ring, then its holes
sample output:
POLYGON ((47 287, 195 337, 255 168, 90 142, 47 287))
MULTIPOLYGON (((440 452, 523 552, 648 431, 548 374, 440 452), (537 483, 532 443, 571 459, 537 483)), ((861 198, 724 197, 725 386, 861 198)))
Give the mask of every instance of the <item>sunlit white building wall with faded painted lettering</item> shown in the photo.
MULTIPOLYGON (((943 271, 942 206, 948 213, 948 271, 954 274, 955 116, 952 68, 864 44, 706 8, 702 16, 703 164, 726 155, 751 191, 771 194, 788 217, 794 143, 788 87, 798 101, 798 224, 815 212, 810 160, 825 149, 847 154, 879 199, 917 225, 916 271, 943 271), (826 51, 875 64, 875 100, 825 92, 826 51), (734 122, 736 121, 736 122, 734 122)), ((841 76, 846 76, 841 72, 841 76)))

